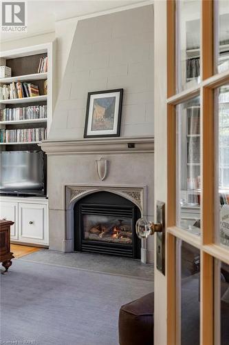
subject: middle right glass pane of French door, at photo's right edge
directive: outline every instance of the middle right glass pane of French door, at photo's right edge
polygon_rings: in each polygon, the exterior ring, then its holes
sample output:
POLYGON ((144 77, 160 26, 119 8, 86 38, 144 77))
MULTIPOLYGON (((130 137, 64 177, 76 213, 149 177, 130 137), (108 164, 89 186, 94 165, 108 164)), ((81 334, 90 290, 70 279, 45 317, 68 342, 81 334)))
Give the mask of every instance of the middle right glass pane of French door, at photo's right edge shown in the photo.
POLYGON ((217 90, 218 116, 218 181, 219 181, 219 221, 218 242, 229 246, 229 85, 217 90))

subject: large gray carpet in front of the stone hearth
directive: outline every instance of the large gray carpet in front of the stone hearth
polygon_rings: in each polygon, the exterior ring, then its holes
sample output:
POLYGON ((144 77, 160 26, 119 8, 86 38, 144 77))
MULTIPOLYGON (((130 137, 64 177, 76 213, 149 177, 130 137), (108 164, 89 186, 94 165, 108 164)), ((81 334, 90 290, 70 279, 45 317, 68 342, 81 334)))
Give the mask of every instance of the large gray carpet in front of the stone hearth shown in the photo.
POLYGON ((144 279, 14 259, 1 275, 1 342, 117 345, 120 306, 152 290, 144 279))

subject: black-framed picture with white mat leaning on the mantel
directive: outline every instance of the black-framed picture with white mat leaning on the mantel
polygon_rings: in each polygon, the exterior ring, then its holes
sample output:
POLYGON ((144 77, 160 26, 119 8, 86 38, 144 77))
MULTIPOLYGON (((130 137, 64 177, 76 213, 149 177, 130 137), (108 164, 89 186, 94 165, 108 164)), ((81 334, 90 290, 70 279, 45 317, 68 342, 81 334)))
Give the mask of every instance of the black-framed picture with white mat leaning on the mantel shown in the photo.
POLYGON ((85 138, 119 137, 123 89, 89 92, 85 138))

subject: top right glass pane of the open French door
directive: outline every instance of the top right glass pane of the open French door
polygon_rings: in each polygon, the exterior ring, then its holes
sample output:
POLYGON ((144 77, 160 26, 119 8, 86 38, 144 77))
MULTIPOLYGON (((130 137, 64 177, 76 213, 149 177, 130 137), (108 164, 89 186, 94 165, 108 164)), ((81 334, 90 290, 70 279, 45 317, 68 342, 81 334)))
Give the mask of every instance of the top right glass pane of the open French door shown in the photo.
POLYGON ((217 1, 219 6, 218 21, 218 72, 229 69, 229 1, 217 1))

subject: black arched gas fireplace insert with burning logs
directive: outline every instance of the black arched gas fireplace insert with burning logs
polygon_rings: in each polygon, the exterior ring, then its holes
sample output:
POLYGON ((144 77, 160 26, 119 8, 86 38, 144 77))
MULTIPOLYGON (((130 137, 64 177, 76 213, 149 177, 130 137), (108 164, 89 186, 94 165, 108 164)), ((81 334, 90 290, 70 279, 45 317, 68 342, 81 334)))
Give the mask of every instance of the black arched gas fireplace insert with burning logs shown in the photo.
POLYGON ((140 259, 135 222, 140 209, 114 193, 97 192, 74 206, 74 250, 140 259))

